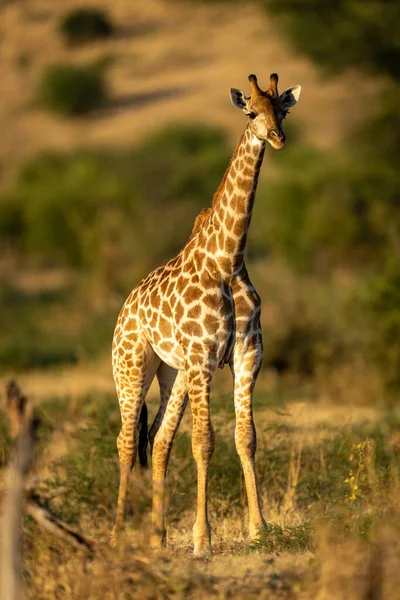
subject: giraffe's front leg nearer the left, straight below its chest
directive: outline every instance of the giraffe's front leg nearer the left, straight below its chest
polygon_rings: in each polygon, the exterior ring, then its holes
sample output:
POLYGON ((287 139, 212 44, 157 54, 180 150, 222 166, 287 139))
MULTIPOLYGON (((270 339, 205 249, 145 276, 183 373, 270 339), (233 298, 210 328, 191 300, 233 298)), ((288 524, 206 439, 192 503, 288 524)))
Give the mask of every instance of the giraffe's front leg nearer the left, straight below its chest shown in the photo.
POLYGON ((208 466, 214 452, 215 434, 210 418, 212 373, 192 368, 187 373, 192 409, 192 451, 197 466, 197 515, 193 526, 194 554, 211 553, 211 527, 207 514, 208 466))

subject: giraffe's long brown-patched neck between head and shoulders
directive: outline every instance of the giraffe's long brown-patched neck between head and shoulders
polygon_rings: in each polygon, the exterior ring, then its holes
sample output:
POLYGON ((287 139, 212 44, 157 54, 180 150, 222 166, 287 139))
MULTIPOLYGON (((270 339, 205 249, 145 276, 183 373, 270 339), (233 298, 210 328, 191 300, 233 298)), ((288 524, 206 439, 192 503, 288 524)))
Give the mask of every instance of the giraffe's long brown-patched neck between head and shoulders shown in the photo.
POLYGON ((208 250, 214 252, 223 278, 229 281, 244 260, 265 142, 248 124, 213 200, 212 233, 208 250))

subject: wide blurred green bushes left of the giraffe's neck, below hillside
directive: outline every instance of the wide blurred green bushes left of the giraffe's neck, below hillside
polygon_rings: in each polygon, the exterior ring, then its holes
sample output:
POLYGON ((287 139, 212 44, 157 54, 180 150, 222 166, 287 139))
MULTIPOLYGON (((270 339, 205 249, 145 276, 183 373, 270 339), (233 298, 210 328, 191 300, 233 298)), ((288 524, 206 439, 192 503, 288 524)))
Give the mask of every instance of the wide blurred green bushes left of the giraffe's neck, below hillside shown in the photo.
POLYGON ((169 127, 134 149, 43 154, 0 198, 0 246, 132 285, 183 246, 228 160, 223 134, 204 126, 169 127))

